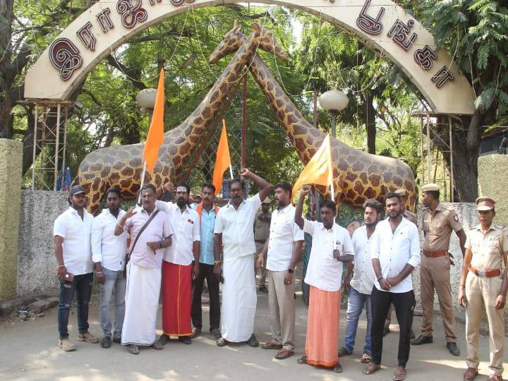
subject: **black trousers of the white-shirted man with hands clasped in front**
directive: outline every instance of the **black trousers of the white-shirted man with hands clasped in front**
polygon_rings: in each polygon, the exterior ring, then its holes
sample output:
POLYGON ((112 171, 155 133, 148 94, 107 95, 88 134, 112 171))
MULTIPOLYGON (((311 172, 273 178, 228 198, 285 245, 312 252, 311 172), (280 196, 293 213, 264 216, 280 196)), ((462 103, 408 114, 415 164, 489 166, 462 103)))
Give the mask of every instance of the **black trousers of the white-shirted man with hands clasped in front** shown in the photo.
POLYGON ((372 355, 373 363, 379 365, 381 363, 382 353, 382 332, 385 327, 385 319, 390 304, 395 307, 395 314, 399 321, 399 366, 406 368, 409 360, 409 341, 411 325, 413 324, 413 310, 415 298, 413 290, 402 293, 394 293, 387 291, 379 291, 373 287, 370 295, 370 303, 372 304, 372 331, 370 337, 372 339, 372 355))

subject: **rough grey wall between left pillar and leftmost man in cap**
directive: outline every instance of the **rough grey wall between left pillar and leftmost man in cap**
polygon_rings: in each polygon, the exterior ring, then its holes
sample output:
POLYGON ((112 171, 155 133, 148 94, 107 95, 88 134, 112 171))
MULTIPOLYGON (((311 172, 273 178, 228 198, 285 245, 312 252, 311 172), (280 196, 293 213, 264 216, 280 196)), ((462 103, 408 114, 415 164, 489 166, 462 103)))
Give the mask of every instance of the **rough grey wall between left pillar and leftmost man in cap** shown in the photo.
POLYGON ((53 222, 68 208, 68 193, 21 191, 18 245, 18 296, 56 294, 53 222))

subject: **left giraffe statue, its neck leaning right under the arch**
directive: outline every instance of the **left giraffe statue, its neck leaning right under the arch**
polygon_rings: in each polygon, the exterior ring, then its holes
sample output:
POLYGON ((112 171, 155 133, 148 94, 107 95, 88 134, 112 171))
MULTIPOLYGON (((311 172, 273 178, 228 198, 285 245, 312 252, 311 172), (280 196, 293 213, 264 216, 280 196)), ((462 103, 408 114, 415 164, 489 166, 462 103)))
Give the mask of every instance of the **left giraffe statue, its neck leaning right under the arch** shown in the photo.
MULTIPOLYGON (((240 29, 241 25, 235 22, 235 27, 224 36, 224 40, 230 39, 227 37, 229 34, 237 35, 240 29)), ((286 59, 285 54, 279 53, 282 49, 274 46, 271 34, 264 35, 263 32, 260 28, 254 28, 247 39, 242 36, 244 43, 235 49, 236 54, 199 106, 180 126, 164 133, 159 160, 154 173, 146 174, 146 183, 153 183, 159 188, 167 181, 176 180, 183 164, 202 138, 207 124, 217 116, 227 93, 241 77, 246 63, 252 61, 258 46, 262 45, 267 52, 286 59)), ((232 52, 227 44, 221 44, 216 51, 226 52, 224 55, 232 52)), ((83 159, 74 183, 80 183, 87 191, 90 212, 97 211, 104 192, 111 186, 119 186, 123 197, 135 198, 143 171, 143 147, 143 143, 106 147, 91 152, 83 159)))

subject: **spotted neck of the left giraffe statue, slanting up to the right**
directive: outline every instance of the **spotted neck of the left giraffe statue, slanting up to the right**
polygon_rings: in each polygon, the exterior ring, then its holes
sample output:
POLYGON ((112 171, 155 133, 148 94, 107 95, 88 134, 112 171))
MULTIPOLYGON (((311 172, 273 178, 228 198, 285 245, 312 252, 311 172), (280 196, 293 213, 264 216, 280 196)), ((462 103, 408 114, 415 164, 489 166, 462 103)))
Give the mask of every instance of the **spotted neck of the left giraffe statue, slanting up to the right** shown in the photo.
POLYGON ((163 161, 173 162, 177 169, 186 162, 207 125, 217 117, 226 95, 243 73, 243 68, 252 61, 258 47, 256 38, 255 33, 248 37, 193 113, 180 126, 165 133, 160 153, 163 161))

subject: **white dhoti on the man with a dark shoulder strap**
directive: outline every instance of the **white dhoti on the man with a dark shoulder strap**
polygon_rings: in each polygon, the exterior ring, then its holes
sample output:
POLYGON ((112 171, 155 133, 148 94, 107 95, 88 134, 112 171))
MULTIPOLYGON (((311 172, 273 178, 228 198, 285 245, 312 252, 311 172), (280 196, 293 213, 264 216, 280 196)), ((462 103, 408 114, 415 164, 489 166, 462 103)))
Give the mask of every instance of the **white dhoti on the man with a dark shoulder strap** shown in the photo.
POLYGON ((126 308, 121 344, 150 346, 155 343, 161 270, 127 265, 126 308))

